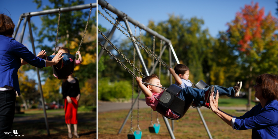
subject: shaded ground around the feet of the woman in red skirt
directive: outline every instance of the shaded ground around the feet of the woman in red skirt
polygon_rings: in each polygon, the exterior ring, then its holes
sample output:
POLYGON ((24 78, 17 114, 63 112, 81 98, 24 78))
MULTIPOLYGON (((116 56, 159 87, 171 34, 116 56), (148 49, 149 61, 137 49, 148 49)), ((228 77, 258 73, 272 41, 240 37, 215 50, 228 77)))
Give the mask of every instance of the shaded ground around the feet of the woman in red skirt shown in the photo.
MULTIPOLYGON (((12 130, 17 130, 18 135, 24 135, 16 138, 68 138, 64 109, 46 110, 46 112, 50 136, 48 136, 43 110, 31 109, 24 114, 15 114, 12 130)), ((73 131, 72 126, 72 133, 73 131)), ((78 133, 85 139, 96 138, 96 112, 78 108, 78 133)))

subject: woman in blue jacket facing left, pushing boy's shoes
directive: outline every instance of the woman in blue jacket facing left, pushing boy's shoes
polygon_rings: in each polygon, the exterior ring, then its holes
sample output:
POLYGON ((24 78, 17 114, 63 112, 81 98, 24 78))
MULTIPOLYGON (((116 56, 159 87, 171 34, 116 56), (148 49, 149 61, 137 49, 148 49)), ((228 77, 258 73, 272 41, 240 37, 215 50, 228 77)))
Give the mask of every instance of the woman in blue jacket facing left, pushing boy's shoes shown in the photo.
POLYGON ((211 110, 233 129, 252 129, 252 139, 277 139, 278 76, 259 75, 253 87, 255 88, 255 97, 260 100, 260 103, 243 116, 236 117, 221 111, 218 108, 218 91, 215 100, 210 97, 211 110))

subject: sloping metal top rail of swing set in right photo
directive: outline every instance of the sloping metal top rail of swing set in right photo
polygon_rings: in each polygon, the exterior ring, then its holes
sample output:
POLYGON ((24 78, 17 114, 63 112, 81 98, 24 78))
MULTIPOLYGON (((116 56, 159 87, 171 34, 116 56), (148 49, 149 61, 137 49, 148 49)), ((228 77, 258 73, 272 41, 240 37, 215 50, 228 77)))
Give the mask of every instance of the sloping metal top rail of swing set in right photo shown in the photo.
POLYGON ((133 25, 145 30, 146 32, 150 33, 151 35, 155 36, 156 38, 165 41, 167 44, 171 44, 171 40, 165 38, 164 36, 158 34, 157 32, 155 32, 154 30, 150 29, 149 27, 146 27, 144 24, 140 23, 139 21, 129 17, 128 15, 126 15, 124 12, 116 9, 114 6, 112 6, 111 4, 109 4, 108 2, 106 2, 105 0, 98 0, 98 4, 111 11, 112 13, 116 14, 118 17, 123 18, 126 17, 126 19, 128 19, 128 22, 132 23, 133 25))

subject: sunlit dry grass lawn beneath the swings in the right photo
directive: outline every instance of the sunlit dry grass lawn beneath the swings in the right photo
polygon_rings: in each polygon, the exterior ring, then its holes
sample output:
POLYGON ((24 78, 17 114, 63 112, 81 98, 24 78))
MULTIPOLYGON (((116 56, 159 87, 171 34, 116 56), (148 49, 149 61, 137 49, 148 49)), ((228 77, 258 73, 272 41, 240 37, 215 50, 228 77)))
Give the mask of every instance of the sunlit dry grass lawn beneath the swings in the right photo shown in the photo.
MULTIPOLYGON (((223 111, 234 115, 241 116, 246 111, 236 110, 237 107, 246 108, 247 99, 241 98, 227 98, 221 97, 219 99, 219 106, 227 107, 223 111)), ((255 103, 251 103, 251 107, 255 106, 255 103)), ((222 121, 217 115, 211 112, 210 109, 202 107, 202 115, 209 128, 209 131, 214 139, 248 139, 251 138, 252 130, 233 130, 228 124, 222 121)), ((148 127, 150 126, 151 119, 150 108, 140 108, 139 113, 139 125, 142 131, 141 139, 154 139, 163 138, 171 139, 170 134, 166 128, 166 124, 159 115, 159 121, 161 128, 158 134, 150 133, 148 127)), ((128 110, 119 110, 112 112, 98 113, 98 139, 122 139, 127 138, 130 133, 130 117, 125 124, 122 132, 118 134, 121 125, 124 122, 125 116, 127 116, 128 110)), ((156 112, 153 115, 153 121, 155 122, 156 112)), ((168 120, 171 125, 171 120, 168 120)), ((137 110, 133 111, 133 131, 137 128, 137 110)), ((174 120, 174 135, 176 139, 196 139, 196 138, 209 138, 204 128, 204 124, 197 112, 197 109, 190 108, 185 116, 180 120, 174 120)))

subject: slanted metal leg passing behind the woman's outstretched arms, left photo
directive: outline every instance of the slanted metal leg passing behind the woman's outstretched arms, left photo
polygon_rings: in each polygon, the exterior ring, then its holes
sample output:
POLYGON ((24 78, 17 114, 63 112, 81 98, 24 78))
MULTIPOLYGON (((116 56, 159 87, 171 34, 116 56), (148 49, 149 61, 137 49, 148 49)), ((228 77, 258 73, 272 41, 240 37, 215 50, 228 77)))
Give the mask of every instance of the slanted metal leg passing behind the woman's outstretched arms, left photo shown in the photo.
MULTIPOLYGON (((25 19, 28 19, 28 26, 29 26, 30 39, 31 39, 32 48, 33 48, 33 54, 36 55, 36 49, 35 49, 35 45, 34 45, 34 39, 33 39, 33 34, 32 34, 32 27, 31 27, 30 17, 25 17, 25 19)), ((40 96, 41 96, 41 99, 42 99, 42 105, 43 105, 43 110, 44 110, 44 120, 45 120, 46 129, 47 129, 47 134, 49 136, 50 135, 49 125, 48 125, 48 119, 47 119, 47 114, 46 114, 45 105, 44 105, 44 95, 43 95, 42 87, 41 87, 41 83, 40 83, 39 68, 36 67, 36 71, 37 71, 37 76, 38 76, 38 80, 39 80, 40 96)))

